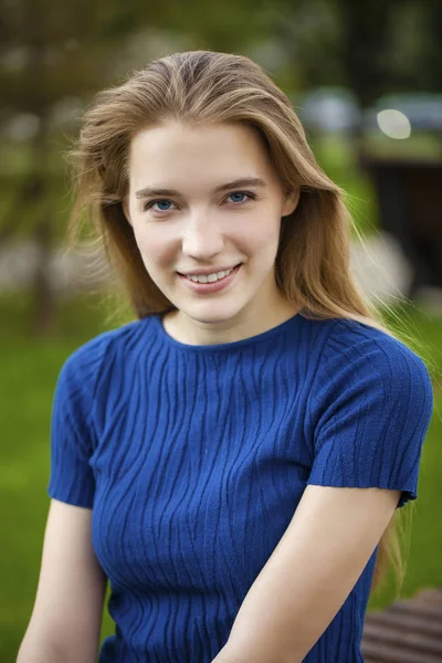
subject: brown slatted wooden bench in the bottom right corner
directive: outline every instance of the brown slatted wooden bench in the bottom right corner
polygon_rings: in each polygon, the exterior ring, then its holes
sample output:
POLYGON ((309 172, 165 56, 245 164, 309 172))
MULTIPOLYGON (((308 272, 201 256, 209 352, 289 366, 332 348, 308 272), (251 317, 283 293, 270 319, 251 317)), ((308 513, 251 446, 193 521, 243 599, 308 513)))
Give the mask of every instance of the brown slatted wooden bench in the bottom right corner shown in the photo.
POLYGON ((441 663, 442 587, 366 615, 365 663, 441 663))

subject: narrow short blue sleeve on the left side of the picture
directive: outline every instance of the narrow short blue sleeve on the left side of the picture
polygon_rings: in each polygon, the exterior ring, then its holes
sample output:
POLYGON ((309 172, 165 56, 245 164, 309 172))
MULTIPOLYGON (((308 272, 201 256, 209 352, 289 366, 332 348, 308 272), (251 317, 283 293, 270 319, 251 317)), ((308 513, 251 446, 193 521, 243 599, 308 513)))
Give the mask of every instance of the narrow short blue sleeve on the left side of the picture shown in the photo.
MULTIPOLYGON (((74 352, 62 367, 52 406, 50 497, 92 508, 95 481, 90 459, 91 376, 84 375, 84 352, 74 352), (83 359, 83 360, 82 360, 83 359)), ((90 370, 87 371, 91 372, 90 370)))

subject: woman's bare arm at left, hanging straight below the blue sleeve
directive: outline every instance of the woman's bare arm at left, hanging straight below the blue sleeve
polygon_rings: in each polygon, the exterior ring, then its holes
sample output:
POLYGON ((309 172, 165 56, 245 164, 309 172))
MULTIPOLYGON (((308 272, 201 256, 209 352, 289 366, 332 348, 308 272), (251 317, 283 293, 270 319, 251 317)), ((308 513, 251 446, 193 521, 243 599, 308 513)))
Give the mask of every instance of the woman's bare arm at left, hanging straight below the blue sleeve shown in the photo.
POLYGON ((35 603, 17 663, 95 663, 106 577, 91 522, 91 509, 51 501, 35 603))

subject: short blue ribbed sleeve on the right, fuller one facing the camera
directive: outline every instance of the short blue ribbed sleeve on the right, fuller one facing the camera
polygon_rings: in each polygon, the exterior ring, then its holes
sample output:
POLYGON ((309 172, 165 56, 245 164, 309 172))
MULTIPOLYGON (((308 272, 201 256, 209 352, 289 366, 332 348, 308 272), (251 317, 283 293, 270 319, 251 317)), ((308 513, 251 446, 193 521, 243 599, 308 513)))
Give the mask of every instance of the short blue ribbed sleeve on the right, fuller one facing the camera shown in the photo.
POLYGON ((433 391, 422 359, 387 334, 338 326, 318 369, 307 484, 401 491, 417 498, 433 391))

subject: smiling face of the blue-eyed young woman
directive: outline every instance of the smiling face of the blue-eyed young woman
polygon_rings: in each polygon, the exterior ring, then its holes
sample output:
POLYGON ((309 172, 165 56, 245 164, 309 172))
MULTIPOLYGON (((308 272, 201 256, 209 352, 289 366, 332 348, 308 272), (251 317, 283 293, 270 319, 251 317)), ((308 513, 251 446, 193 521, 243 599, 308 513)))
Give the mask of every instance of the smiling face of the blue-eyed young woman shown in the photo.
MULTIPOLYGON (((125 211, 146 270, 189 329, 245 326, 281 307, 274 276, 286 198, 245 125, 156 126, 135 136, 125 211)), ((252 325, 252 327, 251 327, 252 325)))

